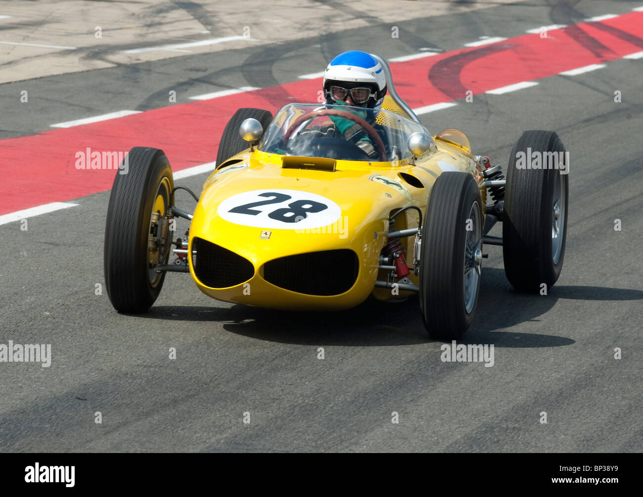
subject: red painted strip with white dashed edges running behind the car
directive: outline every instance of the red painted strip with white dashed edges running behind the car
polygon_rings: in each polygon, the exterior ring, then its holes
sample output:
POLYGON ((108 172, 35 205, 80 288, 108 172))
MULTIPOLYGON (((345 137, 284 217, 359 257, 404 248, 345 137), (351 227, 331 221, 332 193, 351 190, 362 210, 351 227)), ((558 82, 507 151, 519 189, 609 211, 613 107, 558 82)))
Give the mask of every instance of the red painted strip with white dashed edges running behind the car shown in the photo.
MULTIPOLYGON (((482 39, 459 50, 397 57, 391 70, 399 94, 421 115, 456 105, 467 94, 500 96, 549 76, 599 70, 617 58, 631 60, 643 71, 643 39, 637 35, 642 25, 640 9, 598 16, 571 26, 534 28, 530 31, 536 32, 520 37, 482 39)), ((278 87, 191 96, 192 101, 145 112, 125 109, 79 116, 52 123, 54 129, 37 135, 4 139, 0 141, 3 190, 15 195, 0 205, 0 223, 64 209, 68 205, 62 202, 109 189, 114 170, 91 169, 91 163, 78 162, 79 152, 89 157, 91 152, 123 153, 133 146, 152 146, 163 149, 174 171, 213 170, 219 137, 235 110, 258 107, 274 114, 285 103, 317 101, 321 77, 314 76, 278 87)), ((32 93, 32 98, 38 96, 32 93)), ((96 161, 95 167, 101 164, 109 167, 103 161, 96 161)))

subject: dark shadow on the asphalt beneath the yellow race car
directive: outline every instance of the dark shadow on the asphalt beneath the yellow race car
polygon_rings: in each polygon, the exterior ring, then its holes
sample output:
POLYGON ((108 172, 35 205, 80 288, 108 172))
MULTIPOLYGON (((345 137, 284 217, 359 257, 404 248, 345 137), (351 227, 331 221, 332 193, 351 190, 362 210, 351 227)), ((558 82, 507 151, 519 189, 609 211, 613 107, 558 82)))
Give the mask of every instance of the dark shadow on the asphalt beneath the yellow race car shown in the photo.
MULTIPOLYGON (((599 286, 554 286, 548 295, 518 293, 502 269, 485 268, 475 320, 458 342, 513 348, 574 344, 571 338, 544 333, 547 329, 543 333, 520 331, 525 322, 539 322, 538 317, 547 313, 558 299, 639 300, 643 299, 643 292, 599 286)), ((141 317, 224 322, 223 328, 237 335, 295 345, 364 347, 433 341, 424 331, 417 297, 395 303, 369 299, 354 309, 334 312, 275 311, 241 304, 228 308, 157 306, 141 317)))

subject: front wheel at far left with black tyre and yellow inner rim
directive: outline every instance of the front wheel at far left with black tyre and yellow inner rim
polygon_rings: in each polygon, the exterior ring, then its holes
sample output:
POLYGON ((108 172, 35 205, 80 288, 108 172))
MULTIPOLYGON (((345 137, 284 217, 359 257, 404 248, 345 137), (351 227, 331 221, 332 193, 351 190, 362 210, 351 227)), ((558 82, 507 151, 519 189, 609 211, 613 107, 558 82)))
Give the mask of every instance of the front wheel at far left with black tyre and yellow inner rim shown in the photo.
POLYGON ((163 215, 172 205, 174 179, 170 162, 158 148, 134 147, 125 160, 129 171, 116 173, 107 208, 105 286, 114 309, 143 313, 156 301, 165 279, 165 272, 154 272, 150 258, 158 254, 154 263, 167 264, 172 249, 168 227, 161 248, 150 251, 150 232, 161 230, 152 222, 152 211, 163 215))

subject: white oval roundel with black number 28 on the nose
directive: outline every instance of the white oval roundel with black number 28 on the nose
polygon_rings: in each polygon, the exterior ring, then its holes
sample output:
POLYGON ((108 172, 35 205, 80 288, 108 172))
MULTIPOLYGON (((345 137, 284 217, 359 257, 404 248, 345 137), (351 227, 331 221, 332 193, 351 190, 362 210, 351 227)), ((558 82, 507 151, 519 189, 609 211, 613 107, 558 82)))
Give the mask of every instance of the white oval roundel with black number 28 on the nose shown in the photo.
POLYGON ((320 228, 336 222, 340 206, 329 198, 301 190, 266 189, 237 193, 217 209, 224 220, 272 229, 320 228))

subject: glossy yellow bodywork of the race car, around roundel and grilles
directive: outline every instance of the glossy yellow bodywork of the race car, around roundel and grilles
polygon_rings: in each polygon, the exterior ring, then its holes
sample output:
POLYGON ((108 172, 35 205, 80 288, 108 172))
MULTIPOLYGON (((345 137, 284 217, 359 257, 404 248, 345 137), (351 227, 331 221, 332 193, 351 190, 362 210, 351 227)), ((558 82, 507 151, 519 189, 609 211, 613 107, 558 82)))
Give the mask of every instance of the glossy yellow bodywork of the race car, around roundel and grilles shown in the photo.
MULTIPOLYGON (((388 288, 374 287, 376 279, 386 281, 389 273, 388 270, 379 270, 378 265, 381 250, 387 243, 390 214, 401 207, 415 205, 424 215, 431 187, 444 170, 467 172, 478 183, 481 181, 480 165, 466 146, 439 136, 434 140, 435 144, 417 157, 415 164, 410 164, 410 161, 399 161, 395 165, 391 162, 336 161, 335 171, 285 169, 282 168, 282 155, 259 150, 246 150, 230 157, 204 184, 190 227, 189 253, 192 254, 194 238, 202 238, 248 259, 254 266, 254 275, 236 286, 211 288, 199 281, 192 257, 188 257, 190 274, 199 289, 214 299, 284 310, 341 310, 358 305, 370 294, 380 300, 410 295, 411 292, 392 295, 388 288), (233 166, 228 166, 230 163, 233 166), (223 173, 226 167, 231 170, 223 173), (369 180, 374 175, 388 178, 403 187, 369 180), (413 186, 404 175, 419 180, 423 187, 413 186), (308 232, 270 229, 271 234, 266 239, 260 238, 264 231, 262 227, 228 222, 217 214, 217 206, 226 198, 257 189, 302 190, 331 199, 341 209, 341 223, 308 232), (268 283, 263 277, 264 264, 272 259, 335 249, 353 250, 359 260, 356 282, 340 295, 296 293, 268 283)), ((485 193, 484 187, 480 190, 485 193)), ((417 212, 409 209, 395 218, 394 229, 417 225, 417 212)), ((406 262, 412 266, 414 238, 401 241, 406 248, 406 262)), ((418 284, 418 277, 413 271, 408 278, 418 284)))

